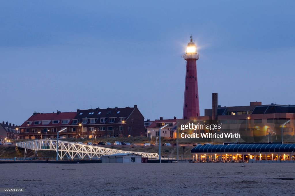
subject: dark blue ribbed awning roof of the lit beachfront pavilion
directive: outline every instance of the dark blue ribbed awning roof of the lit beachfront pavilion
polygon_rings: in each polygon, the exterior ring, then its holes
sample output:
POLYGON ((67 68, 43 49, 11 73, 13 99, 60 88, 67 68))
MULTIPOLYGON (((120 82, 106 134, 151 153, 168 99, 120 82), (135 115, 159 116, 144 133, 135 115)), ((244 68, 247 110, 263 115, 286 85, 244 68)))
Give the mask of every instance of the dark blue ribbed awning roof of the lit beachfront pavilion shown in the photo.
POLYGON ((294 152, 295 144, 229 144, 199 145, 191 153, 250 153, 250 152, 294 152))

